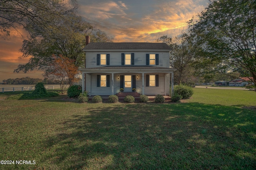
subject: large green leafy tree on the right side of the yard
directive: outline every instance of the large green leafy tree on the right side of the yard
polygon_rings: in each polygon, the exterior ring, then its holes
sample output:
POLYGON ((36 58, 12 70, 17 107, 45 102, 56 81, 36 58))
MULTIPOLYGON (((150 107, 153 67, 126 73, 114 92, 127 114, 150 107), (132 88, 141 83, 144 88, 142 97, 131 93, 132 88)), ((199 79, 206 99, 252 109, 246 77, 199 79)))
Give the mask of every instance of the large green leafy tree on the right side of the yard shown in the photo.
POLYGON ((256 1, 210 0, 190 25, 198 72, 239 73, 256 84, 256 1))

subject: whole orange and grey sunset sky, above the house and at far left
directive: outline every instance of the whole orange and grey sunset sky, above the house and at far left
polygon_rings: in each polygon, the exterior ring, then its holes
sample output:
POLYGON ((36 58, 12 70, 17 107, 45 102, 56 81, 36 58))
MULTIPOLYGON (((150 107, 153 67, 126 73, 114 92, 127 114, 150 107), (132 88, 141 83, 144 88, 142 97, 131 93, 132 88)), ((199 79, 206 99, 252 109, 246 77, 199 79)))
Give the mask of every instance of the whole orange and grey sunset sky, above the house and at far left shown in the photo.
MULTIPOLYGON (((177 36, 186 30, 186 21, 202 12, 208 0, 78 0, 79 14, 114 42, 156 42, 162 35, 177 36)), ((26 33, 24 33, 26 35, 26 33)), ((22 37, 15 32, 0 39, 0 82, 8 78, 42 78, 42 71, 14 73, 22 53, 22 37)))

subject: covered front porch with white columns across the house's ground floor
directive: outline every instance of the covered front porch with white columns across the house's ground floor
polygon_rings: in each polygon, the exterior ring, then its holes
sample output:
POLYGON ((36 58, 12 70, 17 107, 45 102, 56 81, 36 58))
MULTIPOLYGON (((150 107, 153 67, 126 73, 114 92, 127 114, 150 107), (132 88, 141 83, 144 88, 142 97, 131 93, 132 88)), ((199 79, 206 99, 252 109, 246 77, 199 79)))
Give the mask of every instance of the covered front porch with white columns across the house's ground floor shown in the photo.
POLYGON ((113 95, 119 92, 169 95, 170 85, 173 90, 173 72, 175 70, 174 68, 155 66, 83 68, 80 69, 82 71, 82 90, 88 91, 89 96, 113 95))

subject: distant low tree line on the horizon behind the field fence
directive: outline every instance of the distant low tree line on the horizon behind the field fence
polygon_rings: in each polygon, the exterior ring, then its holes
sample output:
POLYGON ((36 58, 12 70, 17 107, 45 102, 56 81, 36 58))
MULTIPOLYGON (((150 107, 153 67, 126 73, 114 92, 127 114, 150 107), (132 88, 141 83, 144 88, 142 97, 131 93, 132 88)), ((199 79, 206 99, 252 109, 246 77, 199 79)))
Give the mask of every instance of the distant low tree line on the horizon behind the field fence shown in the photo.
POLYGON ((3 80, 0 84, 12 84, 12 85, 18 85, 18 84, 37 84, 39 82, 42 82, 43 84, 59 84, 59 81, 56 79, 51 78, 30 78, 30 77, 23 77, 23 78, 8 78, 7 80, 3 80))

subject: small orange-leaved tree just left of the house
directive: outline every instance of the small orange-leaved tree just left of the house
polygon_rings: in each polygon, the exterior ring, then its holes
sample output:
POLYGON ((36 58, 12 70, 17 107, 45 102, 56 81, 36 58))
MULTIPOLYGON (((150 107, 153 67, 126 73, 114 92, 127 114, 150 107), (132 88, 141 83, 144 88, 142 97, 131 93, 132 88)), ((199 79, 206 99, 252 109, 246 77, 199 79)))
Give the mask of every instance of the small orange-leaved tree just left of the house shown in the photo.
POLYGON ((53 61, 46 70, 45 76, 54 77, 59 80, 62 94, 64 94, 67 84, 72 86, 78 82, 78 67, 75 61, 63 57, 62 55, 52 55, 53 61))

